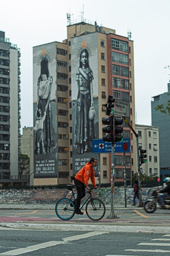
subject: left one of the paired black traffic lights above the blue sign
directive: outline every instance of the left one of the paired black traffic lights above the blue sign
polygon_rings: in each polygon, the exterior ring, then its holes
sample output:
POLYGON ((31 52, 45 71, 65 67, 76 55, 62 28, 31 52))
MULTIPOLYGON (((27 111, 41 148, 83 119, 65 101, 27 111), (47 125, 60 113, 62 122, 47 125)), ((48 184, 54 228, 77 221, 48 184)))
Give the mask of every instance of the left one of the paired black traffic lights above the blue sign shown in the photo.
POLYGON ((102 118, 102 124, 108 125, 102 128, 103 132, 108 133, 107 135, 103 135, 103 140, 107 142, 112 142, 112 143, 114 143, 113 118, 114 118, 114 115, 111 117, 102 118))

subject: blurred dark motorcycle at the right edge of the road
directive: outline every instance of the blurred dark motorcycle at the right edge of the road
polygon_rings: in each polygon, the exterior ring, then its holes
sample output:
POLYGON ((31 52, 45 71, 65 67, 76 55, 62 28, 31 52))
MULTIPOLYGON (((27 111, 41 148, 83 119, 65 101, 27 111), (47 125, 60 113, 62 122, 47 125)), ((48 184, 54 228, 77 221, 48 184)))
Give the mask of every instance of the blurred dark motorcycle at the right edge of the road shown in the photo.
POLYGON ((159 195, 160 195, 160 193, 153 191, 151 194, 152 198, 146 200, 143 207, 147 213, 153 213, 156 209, 170 210, 170 197, 164 198, 166 208, 162 208, 162 205, 160 204, 160 200, 159 200, 159 195))

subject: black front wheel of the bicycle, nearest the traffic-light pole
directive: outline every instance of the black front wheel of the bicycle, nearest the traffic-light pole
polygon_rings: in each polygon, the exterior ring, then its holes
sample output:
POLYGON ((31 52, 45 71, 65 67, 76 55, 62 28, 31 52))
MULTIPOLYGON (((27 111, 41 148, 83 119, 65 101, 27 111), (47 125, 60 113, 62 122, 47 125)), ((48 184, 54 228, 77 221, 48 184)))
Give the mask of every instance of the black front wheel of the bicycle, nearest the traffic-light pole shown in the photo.
POLYGON ((105 211, 105 205, 100 199, 92 198, 86 204, 86 214, 92 221, 102 219, 105 211))

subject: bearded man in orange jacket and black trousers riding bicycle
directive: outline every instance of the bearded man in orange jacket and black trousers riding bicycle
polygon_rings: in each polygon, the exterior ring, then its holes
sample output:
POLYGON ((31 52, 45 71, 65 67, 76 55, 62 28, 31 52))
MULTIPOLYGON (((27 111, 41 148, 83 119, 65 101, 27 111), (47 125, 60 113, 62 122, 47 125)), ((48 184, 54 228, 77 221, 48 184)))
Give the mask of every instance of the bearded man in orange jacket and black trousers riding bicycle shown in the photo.
POLYGON ((97 166, 97 159, 91 157, 89 162, 75 175, 74 184, 77 189, 77 199, 75 204, 75 213, 83 214, 80 210, 81 199, 85 197, 85 185, 90 192, 90 187, 88 186, 89 179, 91 180, 93 186, 98 188, 95 183, 95 170, 94 167, 97 166))

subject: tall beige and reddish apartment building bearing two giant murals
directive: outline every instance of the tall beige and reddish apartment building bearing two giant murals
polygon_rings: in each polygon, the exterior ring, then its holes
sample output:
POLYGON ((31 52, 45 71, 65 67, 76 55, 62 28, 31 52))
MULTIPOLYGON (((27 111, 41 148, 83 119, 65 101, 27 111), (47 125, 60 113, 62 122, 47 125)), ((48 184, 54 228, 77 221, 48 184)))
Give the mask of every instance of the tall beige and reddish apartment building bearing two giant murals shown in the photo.
MULTIPOLYGON (((93 154, 92 139, 102 138, 109 94, 129 104, 126 118, 135 127, 133 41, 90 20, 68 19, 67 40, 33 48, 33 72, 34 184, 70 183, 91 156, 100 162, 101 182, 109 183, 111 154, 93 154)), ((135 140, 125 122, 123 136, 135 140)), ((125 162, 130 179, 131 153, 125 162)), ((115 153, 115 180, 123 181, 123 153, 115 153)))

